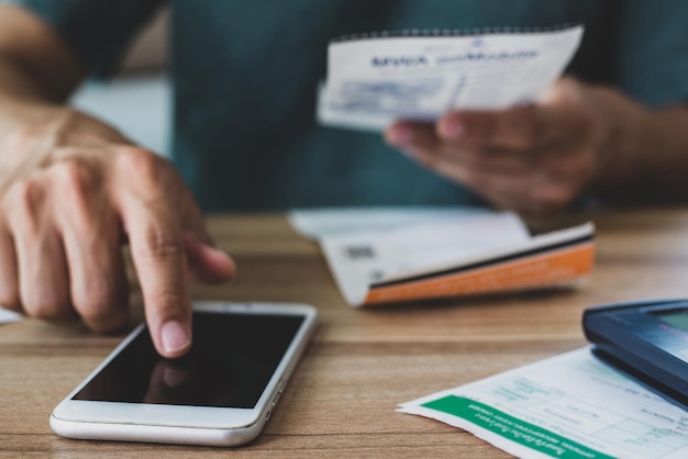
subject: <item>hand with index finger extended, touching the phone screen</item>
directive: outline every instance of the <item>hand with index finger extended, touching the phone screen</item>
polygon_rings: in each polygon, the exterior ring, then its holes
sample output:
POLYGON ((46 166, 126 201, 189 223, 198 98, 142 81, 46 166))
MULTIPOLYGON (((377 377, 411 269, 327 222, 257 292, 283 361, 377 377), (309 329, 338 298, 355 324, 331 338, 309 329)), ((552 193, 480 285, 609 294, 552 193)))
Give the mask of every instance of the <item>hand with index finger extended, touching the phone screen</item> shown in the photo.
POLYGON ((153 342, 165 357, 184 355, 189 278, 223 282, 234 264, 212 247, 174 167, 70 109, 12 113, 0 120, 0 304, 118 328, 129 311, 129 242, 153 342))

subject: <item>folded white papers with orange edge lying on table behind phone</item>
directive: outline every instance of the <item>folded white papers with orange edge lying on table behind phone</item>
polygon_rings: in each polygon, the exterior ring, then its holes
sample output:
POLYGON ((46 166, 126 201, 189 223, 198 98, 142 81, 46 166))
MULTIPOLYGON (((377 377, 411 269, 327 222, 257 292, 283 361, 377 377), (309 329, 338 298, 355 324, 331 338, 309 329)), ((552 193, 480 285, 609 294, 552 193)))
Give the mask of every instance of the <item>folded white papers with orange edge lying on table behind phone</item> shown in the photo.
POLYGON ((592 269, 591 224, 531 237, 509 212, 341 212, 296 211, 290 220, 319 240, 352 306, 552 287, 592 269))

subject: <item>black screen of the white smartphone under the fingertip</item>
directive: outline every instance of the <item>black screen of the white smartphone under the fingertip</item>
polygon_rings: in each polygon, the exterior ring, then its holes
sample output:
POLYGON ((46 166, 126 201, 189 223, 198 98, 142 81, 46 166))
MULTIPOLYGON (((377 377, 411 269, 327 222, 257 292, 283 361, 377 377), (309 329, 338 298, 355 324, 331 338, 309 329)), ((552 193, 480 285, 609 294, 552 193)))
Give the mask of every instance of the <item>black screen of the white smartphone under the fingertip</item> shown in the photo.
POLYGON ((143 328, 73 400, 253 408, 303 320, 195 312, 178 359, 160 357, 143 328))

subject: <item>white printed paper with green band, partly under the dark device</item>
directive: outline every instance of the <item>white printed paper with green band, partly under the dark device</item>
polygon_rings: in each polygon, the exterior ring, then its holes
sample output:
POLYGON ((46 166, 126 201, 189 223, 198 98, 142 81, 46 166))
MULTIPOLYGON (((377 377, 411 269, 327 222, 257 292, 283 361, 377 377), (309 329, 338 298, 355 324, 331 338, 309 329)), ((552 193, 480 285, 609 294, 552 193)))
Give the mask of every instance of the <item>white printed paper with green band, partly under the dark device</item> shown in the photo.
POLYGON ((577 349, 403 403, 528 458, 688 457, 688 412, 577 349))

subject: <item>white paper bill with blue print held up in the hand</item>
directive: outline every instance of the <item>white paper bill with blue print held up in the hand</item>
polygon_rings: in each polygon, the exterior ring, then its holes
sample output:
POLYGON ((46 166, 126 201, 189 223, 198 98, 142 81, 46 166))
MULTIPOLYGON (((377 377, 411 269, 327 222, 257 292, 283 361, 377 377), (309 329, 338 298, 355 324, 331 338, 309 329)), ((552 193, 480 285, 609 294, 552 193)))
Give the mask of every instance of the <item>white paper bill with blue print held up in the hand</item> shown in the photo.
POLYGON ((333 41, 318 120, 381 131, 399 119, 497 110, 537 100, 580 44, 581 25, 552 30, 410 30, 333 41))

